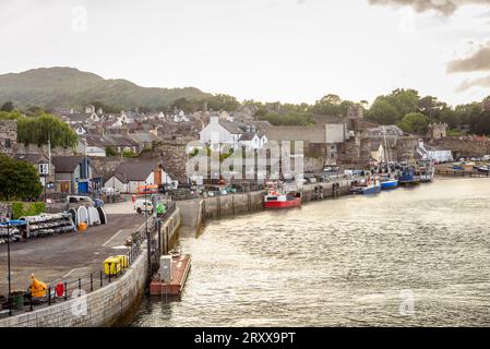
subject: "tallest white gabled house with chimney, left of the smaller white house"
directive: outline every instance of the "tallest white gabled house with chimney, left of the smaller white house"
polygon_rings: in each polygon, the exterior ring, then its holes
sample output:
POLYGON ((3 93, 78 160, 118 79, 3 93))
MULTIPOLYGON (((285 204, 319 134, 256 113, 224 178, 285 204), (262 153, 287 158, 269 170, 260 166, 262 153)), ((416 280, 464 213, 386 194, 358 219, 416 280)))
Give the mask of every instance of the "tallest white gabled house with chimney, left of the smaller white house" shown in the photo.
POLYGON ((219 144, 239 146, 239 140, 244 132, 232 122, 219 120, 219 117, 210 118, 210 123, 200 132, 201 143, 207 143, 213 148, 219 144))

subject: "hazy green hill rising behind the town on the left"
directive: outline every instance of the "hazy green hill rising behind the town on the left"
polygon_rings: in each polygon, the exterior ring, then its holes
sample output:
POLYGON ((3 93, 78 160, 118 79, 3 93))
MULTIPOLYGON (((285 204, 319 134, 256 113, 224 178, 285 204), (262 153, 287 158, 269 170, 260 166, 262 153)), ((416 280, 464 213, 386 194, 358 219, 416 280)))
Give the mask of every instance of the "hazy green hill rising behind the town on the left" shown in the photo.
POLYGON ((0 103, 11 99, 16 107, 84 107, 99 101, 120 108, 157 109, 182 97, 192 100, 210 96, 195 87, 141 87, 127 80, 105 80, 64 67, 0 75, 0 103))

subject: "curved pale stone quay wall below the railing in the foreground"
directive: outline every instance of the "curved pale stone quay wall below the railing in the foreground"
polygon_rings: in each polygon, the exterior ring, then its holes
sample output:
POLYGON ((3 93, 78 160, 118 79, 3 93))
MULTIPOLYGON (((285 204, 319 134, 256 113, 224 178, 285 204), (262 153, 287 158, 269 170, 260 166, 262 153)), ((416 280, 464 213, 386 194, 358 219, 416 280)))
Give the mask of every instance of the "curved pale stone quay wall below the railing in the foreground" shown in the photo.
MULTIPOLYGON (((162 226, 169 241, 175 239, 179 225, 180 210, 177 208, 162 226)), ((69 300, 50 306, 1 318, 0 327, 100 327, 118 324, 140 304, 148 280, 147 264, 147 250, 143 246, 140 256, 124 274, 112 278, 107 286, 81 297, 69 294, 69 300)))

